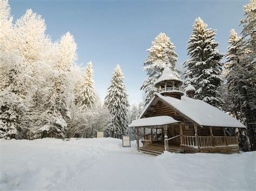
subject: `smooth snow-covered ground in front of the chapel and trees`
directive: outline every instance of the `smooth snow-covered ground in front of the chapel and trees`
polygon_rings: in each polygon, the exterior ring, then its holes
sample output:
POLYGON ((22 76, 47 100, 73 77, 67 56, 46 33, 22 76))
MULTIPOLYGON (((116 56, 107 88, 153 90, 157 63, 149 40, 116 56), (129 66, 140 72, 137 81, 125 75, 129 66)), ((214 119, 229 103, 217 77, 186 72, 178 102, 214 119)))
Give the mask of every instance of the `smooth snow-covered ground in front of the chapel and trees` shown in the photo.
POLYGON ((256 152, 139 153, 113 138, 0 140, 0 190, 255 190, 256 152))

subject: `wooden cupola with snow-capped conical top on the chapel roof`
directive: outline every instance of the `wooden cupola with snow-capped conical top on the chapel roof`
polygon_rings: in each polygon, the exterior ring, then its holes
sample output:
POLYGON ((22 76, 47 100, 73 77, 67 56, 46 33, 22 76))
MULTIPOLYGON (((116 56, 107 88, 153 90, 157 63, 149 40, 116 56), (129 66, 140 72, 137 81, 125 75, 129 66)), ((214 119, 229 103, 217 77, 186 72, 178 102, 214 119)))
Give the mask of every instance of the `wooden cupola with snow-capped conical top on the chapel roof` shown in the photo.
POLYGON ((165 66, 163 73, 159 79, 154 83, 159 90, 159 93, 164 96, 175 97, 180 100, 184 92, 181 89, 183 81, 175 75, 168 65, 165 66))

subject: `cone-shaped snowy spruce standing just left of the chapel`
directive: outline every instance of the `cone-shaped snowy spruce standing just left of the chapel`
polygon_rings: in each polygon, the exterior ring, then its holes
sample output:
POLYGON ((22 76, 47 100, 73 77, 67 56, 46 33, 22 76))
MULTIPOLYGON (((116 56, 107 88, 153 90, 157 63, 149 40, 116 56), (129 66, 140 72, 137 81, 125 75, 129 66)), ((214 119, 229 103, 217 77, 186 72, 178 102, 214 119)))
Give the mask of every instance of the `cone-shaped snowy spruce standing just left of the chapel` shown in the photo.
POLYGON ((114 69, 104 105, 109 109, 111 119, 112 137, 114 134, 122 136, 127 128, 127 112, 129 103, 124 84, 124 77, 119 65, 114 69))

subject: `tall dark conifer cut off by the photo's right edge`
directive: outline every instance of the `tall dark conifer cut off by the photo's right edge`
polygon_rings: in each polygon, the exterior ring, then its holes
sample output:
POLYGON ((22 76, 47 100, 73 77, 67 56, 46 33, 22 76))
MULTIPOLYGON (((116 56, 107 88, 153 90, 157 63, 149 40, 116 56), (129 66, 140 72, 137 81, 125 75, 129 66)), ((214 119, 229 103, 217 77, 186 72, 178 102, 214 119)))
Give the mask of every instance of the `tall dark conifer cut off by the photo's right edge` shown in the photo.
POLYGON ((241 20, 242 30, 242 56, 238 88, 242 100, 242 110, 245 115, 247 135, 250 140, 250 149, 256 150, 256 2, 251 0, 244 6, 245 18, 241 20))

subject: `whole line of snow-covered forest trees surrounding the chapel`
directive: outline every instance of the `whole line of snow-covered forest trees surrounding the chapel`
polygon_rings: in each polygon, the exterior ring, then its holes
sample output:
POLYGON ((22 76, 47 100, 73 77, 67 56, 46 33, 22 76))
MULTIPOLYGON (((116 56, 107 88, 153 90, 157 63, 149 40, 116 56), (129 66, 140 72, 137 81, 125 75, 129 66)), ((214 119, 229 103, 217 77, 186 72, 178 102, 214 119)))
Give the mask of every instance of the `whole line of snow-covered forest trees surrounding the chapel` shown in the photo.
POLYGON ((225 54, 218 50, 216 30, 196 18, 187 41, 184 72, 176 69, 178 54, 171 39, 160 33, 147 49, 143 65, 144 100, 131 107, 119 65, 102 103, 94 88, 92 62, 86 68, 76 63, 73 36, 67 32, 53 42, 45 33, 42 16, 29 9, 14 22, 8 1, 0 0, 0 137, 91 138, 104 131, 105 136, 133 139, 134 129, 127 125, 158 91, 154 82, 169 65, 183 78, 183 88, 196 89, 194 98, 245 124, 247 129, 237 132, 240 148, 256 150, 255 15, 256 3, 251 0, 244 6, 242 32, 238 36, 231 29, 225 54))

